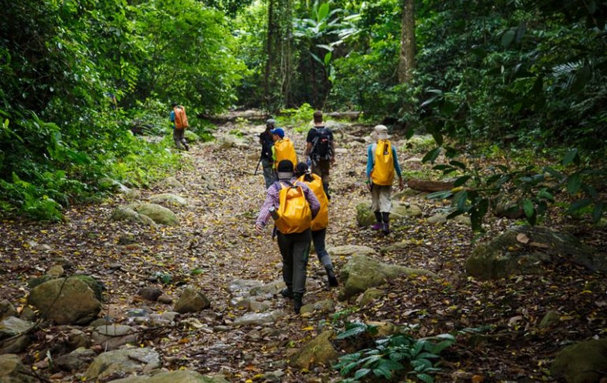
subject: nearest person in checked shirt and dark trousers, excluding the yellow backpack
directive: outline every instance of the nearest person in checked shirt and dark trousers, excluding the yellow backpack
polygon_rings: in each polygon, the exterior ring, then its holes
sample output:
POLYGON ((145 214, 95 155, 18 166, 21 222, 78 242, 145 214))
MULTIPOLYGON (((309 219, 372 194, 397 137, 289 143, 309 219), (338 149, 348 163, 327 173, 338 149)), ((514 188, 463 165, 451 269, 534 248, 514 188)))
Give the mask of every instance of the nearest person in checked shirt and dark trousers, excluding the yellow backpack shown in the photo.
MULTIPOLYGON (((263 233, 273 210, 280 207, 280 190, 288 187, 301 187, 310 210, 311 219, 316 217, 320 210, 320 202, 316 198, 312 189, 305 182, 298 182, 293 174, 293 163, 289 159, 283 159, 277 168, 278 180, 268 189, 266 199, 260 210, 260 214, 255 220, 255 230, 257 233, 263 233)), ((306 292, 306 274, 308 270, 308 257, 310 256, 310 242, 312 234, 310 233, 310 222, 308 228, 299 233, 281 233, 277 230, 278 249, 283 257, 283 281, 287 288, 280 292, 285 298, 293 299, 293 308, 295 313, 299 314, 302 306, 304 292, 306 292)))

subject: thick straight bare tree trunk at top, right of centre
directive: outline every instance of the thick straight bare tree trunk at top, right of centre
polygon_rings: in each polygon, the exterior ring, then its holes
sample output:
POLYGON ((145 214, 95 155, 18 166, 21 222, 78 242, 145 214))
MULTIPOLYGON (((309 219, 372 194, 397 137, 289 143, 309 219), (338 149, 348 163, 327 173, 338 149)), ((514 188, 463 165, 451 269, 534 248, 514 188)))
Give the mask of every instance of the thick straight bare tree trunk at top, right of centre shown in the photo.
POLYGON ((400 57, 398 59, 398 81, 408 84, 415 68, 415 14, 413 0, 403 0, 403 15, 400 25, 400 57))

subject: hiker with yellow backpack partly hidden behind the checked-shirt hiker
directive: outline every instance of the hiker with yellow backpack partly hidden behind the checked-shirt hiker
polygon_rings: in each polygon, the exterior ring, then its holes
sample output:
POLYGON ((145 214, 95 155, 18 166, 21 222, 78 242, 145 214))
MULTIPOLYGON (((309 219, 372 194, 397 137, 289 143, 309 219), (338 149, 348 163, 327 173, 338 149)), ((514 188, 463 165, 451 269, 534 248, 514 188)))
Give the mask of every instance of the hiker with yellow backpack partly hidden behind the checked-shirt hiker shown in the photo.
POLYGON ((312 230, 312 243, 314 244, 314 250, 320 264, 324 266, 327 272, 329 287, 337 287, 339 286, 339 282, 335 276, 333 263, 331 263, 331 257, 324 247, 324 239, 327 237, 327 226, 329 226, 329 198, 324 192, 322 177, 315 173, 310 173, 308 164, 305 162, 299 162, 295 166, 295 177, 297 177, 299 182, 305 182, 320 202, 320 211, 312 220, 312 226, 310 227, 312 230))

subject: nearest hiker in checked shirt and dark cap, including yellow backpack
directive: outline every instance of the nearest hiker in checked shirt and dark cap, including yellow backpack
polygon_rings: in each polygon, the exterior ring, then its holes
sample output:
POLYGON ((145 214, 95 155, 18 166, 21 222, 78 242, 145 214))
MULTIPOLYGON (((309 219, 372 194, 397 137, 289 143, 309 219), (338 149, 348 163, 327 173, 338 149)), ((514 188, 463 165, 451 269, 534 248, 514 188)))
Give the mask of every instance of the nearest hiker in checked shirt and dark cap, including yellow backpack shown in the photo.
POLYGON ((263 233, 270 217, 274 219, 278 249, 283 257, 283 281, 287 285, 280 294, 293 299, 294 311, 299 314, 306 292, 310 226, 320 210, 320 202, 305 182, 294 178, 290 160, 280 161, 277 170, 278 180, 267 189, 255 230, 263 233))

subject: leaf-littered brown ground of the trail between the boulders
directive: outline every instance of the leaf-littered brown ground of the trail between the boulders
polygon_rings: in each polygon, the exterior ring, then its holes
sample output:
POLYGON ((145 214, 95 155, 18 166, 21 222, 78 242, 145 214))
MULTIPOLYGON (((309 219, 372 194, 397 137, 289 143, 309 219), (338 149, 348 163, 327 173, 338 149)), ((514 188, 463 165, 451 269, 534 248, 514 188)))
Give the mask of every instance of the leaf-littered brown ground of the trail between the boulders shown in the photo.
MULTIPOLYGON (((218 131, 235 128, 227 123, 218 131)), ((426 219, 444 207, 433 201, 421 200, 424 215, 398 220, 388 237, 359 228, 355 206, 370 201, 363 183, 363 138, 370 128, 345 129, 360 139, 338 141, 342 150, 333 170, 327 246, 361 244, 379 250, 410 240, 410 245, 402 250, 377 258, 440 275, 439 280, 403 277, 389 281, 384 286, 389 293, 352 311, 350 320, 417 325, 415 336, 456 334, 456 345, 444 352, 443 370, 436 375, 437 382, 553 382, 548 368, 555 352, 575 341, 605 336, 604 274, 562 263, 533 276, 485 282, 467 278, 464 264, 474 247, 474 234, 460 224, 428 224, 426 219), (539 329, 539 322, 551 310, 559 313, 560 320, 552 327, 539 329)), ((297 143, 298 151, 303 150, 303 133, 287 129, 287 135, 297 143)), ((175 174, 184 185, 182 190, 166 185, 140 190, 142 199, 160 192, 188 198, 190 206, 177 210, 179 227, 149 228, 110 221, 112 210, 127 202, 123 195, 96 205, 73 207, 66 214, 67 221, 61 224, 3 219, 0 298, 24 308, 29 292, 27 280, 63 263, 68 274, 92 274, 103 281, 107 290, 101 314, 126 323, 130 308, 148 308, 157 313, 172 308, 137 297, 141 287, 159 287, 165 295, 178 297, 188 284, 202 290, 212 302, 211 309, 186 315, 200 320, 204 329, 177 326, 142 332, 141 344, 157 347, 165 367, 222 373, 230 382, 263 382, 264 373, 277 370, 284 374, 280 377, 283 382, 338 381, 338 373, 330 366, 297 370, 287 364, 290 350, 319 334, 320 323, 331 322, 333 314, 292 315, 290 302, 274 297, 275 308, 288 313, 274 325, 223 332, 206 330, 229 324, 246 313, 230 304, 230 282, 253 279, 269 283, 280 279, 280 255, 276 243, 271 241, 270 230, 257 235, 253 228, 264 187, 262 176, 253 175, 258 158, 255 137, 251 136, 251 142, 249 148, 241 149, 193 144, 186 153, 191 166, 175 174), (216 188, 209 189, 209 182, 216 188), (154 282, 151 277, 155 275, 165 275, 168 280, 154 282)), ((401 163, 414 155, 419 156, 400 152, 401 163)), ((498 233, 511 224, 493 221, 489 233, 498 233)), ((559 224, 572 226, 567 222, 559 224)), ((604 230, 592 229, 582 222, 574 226, 581 239, 606 250, 604 230)), ((347 263, 345 258, 333 261, 338 271, 347 263)), ((311 257, 305 301, 337 300, 337 295, 338 290, 327 288, 324 269, 311 257)), ((338 302, 336 310, 354 306, 353 302, 338 302)), ((76 382, 79 374, 50 370, 40 363, 45 356, 40 351, 52 348, 62 331, 65 329, 61 327, 40 329, 22 357, 26 364, 38 363, 38 371, 52 382, 76 382)))

